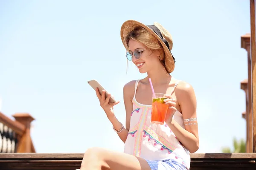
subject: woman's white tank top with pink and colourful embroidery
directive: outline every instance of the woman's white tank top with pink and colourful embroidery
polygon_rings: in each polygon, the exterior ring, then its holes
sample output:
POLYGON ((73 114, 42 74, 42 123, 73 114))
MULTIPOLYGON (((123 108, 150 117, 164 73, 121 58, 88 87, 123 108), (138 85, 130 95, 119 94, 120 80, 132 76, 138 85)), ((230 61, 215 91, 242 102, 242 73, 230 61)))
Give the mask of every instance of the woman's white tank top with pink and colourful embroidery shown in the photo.
MULTIPOLYGON (((146 160, 174 159, 189 169, 189 151, 179 142, 166 123, 156 125, 150 122, 151 105, 137 102, 135 95, 139 81, 135 83, 130 130, 125 141, 124 152, 146 160)), ((178 82, 172 89, 172 93, 177 84, 178 82)), ((173 119, 184 128, 183 116, 179 111, 175 112, 173 119)))

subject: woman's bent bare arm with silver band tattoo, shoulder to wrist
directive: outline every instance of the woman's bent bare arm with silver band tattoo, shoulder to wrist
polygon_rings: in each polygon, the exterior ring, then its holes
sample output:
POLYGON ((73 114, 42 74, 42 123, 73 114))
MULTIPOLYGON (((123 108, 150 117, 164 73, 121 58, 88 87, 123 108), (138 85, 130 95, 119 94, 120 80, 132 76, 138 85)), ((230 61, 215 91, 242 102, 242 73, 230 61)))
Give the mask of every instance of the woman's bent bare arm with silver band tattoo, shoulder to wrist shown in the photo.
POLYGON ((174 119, 169 119, 166 123, 189 152, 195 153, 199 148, 195 91, 188 83, 180 82, 175 89, 175 95, 182 111, 185 129, 174 119))

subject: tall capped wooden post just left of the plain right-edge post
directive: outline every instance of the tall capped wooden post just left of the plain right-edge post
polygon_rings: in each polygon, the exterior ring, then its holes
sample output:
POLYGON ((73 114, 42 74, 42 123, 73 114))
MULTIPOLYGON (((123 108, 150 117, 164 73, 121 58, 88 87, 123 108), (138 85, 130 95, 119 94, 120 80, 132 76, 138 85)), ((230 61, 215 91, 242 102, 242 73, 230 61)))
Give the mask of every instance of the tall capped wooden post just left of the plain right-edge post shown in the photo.
POLYGON ((250 152, 253 152, 250 34, 245 34, 241 36, 241 48, 244 48, 247 51, 247 65, 248 65, 247 101, 248 101, 248 104, 246 108, 246 152, 250 153, 250 152))

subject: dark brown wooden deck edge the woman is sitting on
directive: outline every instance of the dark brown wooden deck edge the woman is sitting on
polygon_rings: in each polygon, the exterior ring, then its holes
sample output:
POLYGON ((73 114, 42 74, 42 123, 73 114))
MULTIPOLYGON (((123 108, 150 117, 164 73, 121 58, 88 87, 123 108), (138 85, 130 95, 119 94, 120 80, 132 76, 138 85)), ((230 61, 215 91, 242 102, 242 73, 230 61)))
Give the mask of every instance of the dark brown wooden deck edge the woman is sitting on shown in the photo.
MULTIPOLYGON (((0 170, 76 170, 82 153, 0 153, 0 170)), ((190 170, 256 170, 256 153, 193 153, 190 170)))

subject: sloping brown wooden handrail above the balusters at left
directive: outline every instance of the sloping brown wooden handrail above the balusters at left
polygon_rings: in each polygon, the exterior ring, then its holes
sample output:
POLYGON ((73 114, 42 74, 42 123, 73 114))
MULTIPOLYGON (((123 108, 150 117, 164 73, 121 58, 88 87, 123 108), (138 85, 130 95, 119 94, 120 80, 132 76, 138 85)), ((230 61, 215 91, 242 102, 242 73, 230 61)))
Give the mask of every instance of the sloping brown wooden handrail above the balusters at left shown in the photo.
POLYGON ((26 127, 21 124, 20 122, 17 122, 16 120, 12 120, 9 117, 5 116, 3 113, 0 112, 0 122, 4 125, 10 127, 15 133, 18 135, 23 135, 23 133, 26 130, 26 127))

